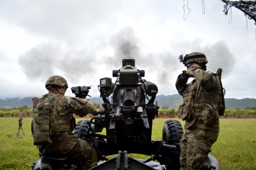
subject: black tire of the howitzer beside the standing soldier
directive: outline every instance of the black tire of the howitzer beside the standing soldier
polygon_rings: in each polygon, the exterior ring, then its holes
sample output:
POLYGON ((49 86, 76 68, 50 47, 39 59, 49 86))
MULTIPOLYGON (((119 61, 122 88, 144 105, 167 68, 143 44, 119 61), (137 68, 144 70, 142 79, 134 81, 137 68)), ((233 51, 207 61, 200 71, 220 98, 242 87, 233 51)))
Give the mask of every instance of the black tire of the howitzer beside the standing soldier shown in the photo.
POLYGON ((179 121, 168 120, 164 123, 162 140, 166 144, 178 144, 183 135, 183 129, 179 121))

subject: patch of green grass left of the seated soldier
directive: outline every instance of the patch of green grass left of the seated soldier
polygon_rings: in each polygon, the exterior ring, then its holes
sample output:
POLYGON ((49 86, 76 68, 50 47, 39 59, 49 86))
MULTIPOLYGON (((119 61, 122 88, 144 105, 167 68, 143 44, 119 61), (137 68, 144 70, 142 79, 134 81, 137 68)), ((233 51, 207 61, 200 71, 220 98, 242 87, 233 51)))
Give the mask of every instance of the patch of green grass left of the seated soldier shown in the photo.
MULTIPOLYGON (((31 134, 32 118, 23 118, 25 137, 22 138, 15 137, 18 133, 18 120, 19 118, 13 117, 0 118, 0 170, 31 169, 30 165, 38 159, 31 134)), ((22 130, 19 136, 23 136, 22 130)))

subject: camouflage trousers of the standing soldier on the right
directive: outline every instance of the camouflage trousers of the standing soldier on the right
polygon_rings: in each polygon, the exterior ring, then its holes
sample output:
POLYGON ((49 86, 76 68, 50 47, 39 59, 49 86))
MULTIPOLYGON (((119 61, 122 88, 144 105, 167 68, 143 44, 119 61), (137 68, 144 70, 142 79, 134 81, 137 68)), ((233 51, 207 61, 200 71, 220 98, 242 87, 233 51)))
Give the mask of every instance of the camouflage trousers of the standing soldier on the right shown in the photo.
POLYGON ((180 169, 198 170, 218 138, 218 131, 188 128, 180 140, 180 169))

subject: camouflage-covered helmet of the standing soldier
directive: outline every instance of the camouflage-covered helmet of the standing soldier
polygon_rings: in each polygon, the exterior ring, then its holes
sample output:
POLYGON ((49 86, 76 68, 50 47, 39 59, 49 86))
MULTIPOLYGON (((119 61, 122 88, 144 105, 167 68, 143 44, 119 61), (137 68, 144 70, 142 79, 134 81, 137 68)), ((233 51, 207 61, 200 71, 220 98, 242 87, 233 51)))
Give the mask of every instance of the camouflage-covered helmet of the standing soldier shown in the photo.
POLYGON ((188 63, 208 63, 206 56, 200 52, 187 54, 183 60, 184 65, 188 63))

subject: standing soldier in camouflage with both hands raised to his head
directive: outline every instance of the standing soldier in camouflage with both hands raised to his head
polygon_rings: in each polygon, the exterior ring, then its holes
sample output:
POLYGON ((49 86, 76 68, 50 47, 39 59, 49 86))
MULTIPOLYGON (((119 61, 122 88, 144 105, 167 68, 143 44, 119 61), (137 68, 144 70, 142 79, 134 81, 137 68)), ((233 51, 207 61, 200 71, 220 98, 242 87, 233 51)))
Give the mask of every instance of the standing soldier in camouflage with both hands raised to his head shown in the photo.
POLYGON ((208 61, 203 53, 190 53, 183 63, 187 70, 176 81, 176 89, 183 96, 178 115, 186 121, 180 140, 180 166, 181 170, 197 170, 218 138, 220 81, 216 74, 206 71, 208 61), (194 79, 187 84, 189 77, 194 79))

